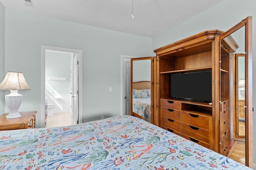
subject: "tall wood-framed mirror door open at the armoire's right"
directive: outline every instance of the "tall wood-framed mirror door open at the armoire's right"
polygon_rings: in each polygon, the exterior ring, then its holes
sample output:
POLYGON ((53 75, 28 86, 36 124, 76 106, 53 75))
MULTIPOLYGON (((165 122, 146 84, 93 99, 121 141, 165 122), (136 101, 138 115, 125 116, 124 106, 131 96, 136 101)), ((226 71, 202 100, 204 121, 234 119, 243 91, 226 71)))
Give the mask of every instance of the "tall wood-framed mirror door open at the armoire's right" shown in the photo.
MULTIPOLYGON (((230 137, 234 139, 234 150, 230 158, 252 168, 252 28, 251 17, 220 36, 221 70, 220 100, 229 98, 230 137), (227 42, 237 43, 237 47, 228 47, 227 42), (228 47, 228 48, 226 48, 228 47), (229 54, 228 54, 229 53, 229 54), (227 56, 225 59, 225 56, 227 56), (230 59, 230 68, 225 60, 230 59), (226 74, 230 75, 230 79, 226 74), (225 84, 230 84, 230 96, 225 84)), ((221 115, 222 116, 222 115, 221 115)), ((222 127, 221 127, 222 128, 222 127)))

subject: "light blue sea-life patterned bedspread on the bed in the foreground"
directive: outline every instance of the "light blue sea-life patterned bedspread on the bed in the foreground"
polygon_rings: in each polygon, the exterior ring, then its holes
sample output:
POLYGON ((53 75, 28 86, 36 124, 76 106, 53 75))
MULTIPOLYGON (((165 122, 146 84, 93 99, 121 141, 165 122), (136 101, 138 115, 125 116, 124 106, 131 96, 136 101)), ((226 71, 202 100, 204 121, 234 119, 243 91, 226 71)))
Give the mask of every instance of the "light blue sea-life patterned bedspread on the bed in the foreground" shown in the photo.
POLYGON ((250 169, 133 116, 0 132, 1 170, 250 169))

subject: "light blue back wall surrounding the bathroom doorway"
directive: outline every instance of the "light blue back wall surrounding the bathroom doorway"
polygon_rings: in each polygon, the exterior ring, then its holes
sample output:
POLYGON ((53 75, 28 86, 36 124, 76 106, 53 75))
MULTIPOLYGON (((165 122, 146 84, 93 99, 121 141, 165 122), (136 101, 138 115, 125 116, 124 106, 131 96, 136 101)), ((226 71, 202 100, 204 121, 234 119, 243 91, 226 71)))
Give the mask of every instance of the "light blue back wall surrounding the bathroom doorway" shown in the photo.
POLYGON ((151 38, 8 8, 5 11, 5 70, 23 72, 32 89, 20 92, 23 101, 19 111, 38 111, 36 126, 40 125, 40 48, 49 45, 83 50, 84 122, 101 115, 120 115, 121 55, 149 56, 151 38))

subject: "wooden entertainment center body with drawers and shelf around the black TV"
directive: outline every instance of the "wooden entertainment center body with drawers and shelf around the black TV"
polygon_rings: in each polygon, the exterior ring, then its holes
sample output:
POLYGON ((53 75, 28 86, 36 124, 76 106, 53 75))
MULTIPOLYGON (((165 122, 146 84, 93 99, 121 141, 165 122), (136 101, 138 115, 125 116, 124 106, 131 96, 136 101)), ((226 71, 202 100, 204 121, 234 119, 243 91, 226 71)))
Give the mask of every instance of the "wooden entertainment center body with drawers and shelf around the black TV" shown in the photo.
MULTIPOLYGON (((230 128, 230 53, 238 48, 231 36, 208 30, 154 50, 159 57, 158 124, 188 140, 229 155, 235 141, 230 128), (171 98, 171 74, 212 71, 212 104, 171 98)), ((204 80, 202 80, 204 81, 204 80)), ((188 82, 189 86, 189 82, 188 82)))

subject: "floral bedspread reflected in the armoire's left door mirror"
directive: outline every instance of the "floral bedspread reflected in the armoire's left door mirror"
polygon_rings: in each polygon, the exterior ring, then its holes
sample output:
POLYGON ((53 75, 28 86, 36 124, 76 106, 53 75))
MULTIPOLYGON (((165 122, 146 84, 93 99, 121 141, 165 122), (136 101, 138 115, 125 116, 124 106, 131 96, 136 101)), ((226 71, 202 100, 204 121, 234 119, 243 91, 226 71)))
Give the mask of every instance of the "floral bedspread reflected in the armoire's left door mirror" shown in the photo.
POLYGON ((151 98, 132 98, 132 111, 142 117, 143 120, 151 120, 151 98))

